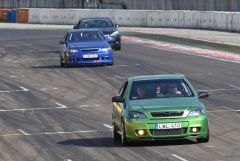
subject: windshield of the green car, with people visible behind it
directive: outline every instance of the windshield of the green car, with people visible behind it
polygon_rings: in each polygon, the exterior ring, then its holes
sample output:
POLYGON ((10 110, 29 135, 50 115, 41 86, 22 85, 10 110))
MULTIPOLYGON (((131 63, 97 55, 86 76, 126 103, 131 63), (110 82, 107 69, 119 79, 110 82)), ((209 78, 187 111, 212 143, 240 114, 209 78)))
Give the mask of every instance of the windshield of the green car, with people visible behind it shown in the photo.
POLYGON ((159 79, 134 81, 129 99, 136 100, 193 96, 193 92, 184 79, 159 79))

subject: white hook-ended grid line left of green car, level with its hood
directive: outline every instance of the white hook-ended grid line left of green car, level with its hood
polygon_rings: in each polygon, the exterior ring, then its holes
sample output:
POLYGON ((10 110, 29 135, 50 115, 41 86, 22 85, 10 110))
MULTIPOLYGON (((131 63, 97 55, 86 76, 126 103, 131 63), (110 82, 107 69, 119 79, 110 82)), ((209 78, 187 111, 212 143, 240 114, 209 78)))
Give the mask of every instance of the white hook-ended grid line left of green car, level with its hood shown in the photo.
POLYGON ((16 112, 16 111, 35 111, 35 110, 54 110, 54 109, 66 109, 68 108, 65 105, 56 103, 57 107, 43 107, 43 108, 17 108, 11 110, 0 110, 0 112, 16 112))

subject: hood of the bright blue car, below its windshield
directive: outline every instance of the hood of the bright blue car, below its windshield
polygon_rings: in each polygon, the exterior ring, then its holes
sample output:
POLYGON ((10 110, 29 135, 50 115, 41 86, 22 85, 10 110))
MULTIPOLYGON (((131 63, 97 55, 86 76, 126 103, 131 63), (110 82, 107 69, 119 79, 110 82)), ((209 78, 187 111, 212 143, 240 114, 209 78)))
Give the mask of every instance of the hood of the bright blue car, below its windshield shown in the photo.
POLYGON ((68 48, 107 48, 107 41, 69 42, 68 48))

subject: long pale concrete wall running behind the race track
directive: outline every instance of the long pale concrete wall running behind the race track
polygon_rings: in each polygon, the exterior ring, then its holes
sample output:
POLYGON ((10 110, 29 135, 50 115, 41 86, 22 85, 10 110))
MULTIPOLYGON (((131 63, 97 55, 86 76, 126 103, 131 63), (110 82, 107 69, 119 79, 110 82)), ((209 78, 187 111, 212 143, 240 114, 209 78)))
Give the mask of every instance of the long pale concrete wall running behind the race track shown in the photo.
POLYGON ((29 9, 29 23, 76 24, 82 17, 105 16, 120 26, 240 31, 240 13, 189 10, 29 9))

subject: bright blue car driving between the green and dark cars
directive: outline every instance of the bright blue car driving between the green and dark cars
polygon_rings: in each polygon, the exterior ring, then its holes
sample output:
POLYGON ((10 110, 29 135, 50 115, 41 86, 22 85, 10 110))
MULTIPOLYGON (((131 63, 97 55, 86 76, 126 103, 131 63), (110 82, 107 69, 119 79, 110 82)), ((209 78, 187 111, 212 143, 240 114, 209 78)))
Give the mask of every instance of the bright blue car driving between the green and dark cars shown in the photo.
POLYGON ((59 41, 60 65, 113 65, 112 49, 99 29, 74 29, 59 41))

